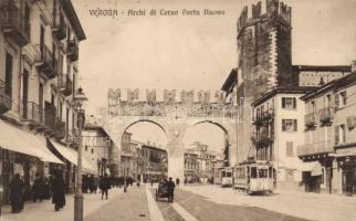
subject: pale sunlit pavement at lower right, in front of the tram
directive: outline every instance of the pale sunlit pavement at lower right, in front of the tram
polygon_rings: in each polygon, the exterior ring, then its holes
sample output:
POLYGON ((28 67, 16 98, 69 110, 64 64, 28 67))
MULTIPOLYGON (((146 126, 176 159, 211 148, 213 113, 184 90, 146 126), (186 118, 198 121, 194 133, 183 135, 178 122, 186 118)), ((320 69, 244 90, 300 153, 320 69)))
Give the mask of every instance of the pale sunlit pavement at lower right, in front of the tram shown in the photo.
POLYGON ((220 204, 258 207, 308 220, 356 220, 356 198, 276 190, 271 196, 248 196, 217 186, 182 187, 220 204))

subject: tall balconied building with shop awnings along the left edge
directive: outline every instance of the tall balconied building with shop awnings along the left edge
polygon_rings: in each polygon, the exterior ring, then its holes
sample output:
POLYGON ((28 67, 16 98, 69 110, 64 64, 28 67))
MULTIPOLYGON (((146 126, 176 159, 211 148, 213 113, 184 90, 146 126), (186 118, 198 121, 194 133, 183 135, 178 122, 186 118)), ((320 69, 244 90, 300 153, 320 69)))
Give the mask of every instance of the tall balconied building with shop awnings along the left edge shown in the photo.
POLYGON ((0 160, 6 200, 14 173, 23 176, 30 189, 34 173, 49 176, 61 168, 69 189, 73 187, 76 161, 48 147, 76 151, 73 94, 78 87, 78 42, 84 39, 70 0, 0 1, 0 160))

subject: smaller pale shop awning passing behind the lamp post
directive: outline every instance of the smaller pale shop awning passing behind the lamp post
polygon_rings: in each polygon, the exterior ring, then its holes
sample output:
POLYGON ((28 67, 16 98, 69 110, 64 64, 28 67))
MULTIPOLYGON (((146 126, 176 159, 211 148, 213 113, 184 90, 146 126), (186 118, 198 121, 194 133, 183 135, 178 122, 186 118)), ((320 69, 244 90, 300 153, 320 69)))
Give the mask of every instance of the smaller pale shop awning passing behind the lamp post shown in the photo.
MULTIPOLYGON (((77 166, 77 151, 50 139, 53 147, 70 162, 77 166)), ((97 173, 96 168, 84 156, 82 157, 82 168, 84 172, 97 173)))

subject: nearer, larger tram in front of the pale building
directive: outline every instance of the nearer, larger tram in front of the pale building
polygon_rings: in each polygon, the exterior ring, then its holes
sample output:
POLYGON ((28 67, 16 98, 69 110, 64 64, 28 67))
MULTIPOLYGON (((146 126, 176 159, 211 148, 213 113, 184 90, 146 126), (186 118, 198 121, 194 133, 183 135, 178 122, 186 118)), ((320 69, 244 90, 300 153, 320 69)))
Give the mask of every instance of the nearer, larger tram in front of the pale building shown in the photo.
POLYGON ((273 167, 268 161, 248 161, 233 168, 233 188, 254 193, 273 192, 273 167))

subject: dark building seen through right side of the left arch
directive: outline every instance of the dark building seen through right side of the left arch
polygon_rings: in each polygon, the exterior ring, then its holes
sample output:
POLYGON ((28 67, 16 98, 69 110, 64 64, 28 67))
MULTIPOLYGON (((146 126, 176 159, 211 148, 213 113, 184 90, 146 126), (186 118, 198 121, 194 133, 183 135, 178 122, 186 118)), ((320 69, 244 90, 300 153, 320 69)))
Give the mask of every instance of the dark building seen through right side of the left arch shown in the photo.
POLYGON ((143 156, 143 177, 144 180, 155 180, 167 177, 168 173, 168 155, 167 150, 156 147, 150 143, 142 146, 143 156))

